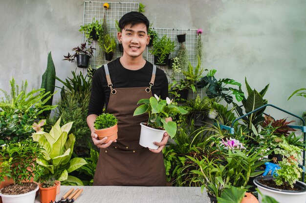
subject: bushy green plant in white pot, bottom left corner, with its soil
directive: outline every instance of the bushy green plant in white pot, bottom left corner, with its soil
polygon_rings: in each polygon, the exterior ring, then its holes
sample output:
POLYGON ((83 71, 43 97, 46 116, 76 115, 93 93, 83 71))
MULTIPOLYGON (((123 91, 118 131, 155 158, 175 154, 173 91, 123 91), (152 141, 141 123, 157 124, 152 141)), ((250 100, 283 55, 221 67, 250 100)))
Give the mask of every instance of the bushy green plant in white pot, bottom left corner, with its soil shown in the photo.
POLYGON ((4 175, 14 180, 0 190, 3 203, 34 203, 36 191, 39 189, 36 180, 42 173, 37 159, 43 156, 43 148, 38 142, 22 140, 20 142, 3 144, 0 150, 1 166, 0 178, 4 175))

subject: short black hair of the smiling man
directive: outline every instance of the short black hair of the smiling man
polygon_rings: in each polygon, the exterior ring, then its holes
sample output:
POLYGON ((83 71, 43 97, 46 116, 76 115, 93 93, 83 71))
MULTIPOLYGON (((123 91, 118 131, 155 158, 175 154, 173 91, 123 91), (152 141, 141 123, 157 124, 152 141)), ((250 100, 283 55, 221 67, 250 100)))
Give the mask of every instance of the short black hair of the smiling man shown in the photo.
POLYGON ((140 12, 131 11, 129 13, 124 14, 119 20, 120 31, 125 28, 127 25, 134 26, 139 23, 144 23, 147 26, 147 32, 149 30, 150 22, 145 15, 140 12))

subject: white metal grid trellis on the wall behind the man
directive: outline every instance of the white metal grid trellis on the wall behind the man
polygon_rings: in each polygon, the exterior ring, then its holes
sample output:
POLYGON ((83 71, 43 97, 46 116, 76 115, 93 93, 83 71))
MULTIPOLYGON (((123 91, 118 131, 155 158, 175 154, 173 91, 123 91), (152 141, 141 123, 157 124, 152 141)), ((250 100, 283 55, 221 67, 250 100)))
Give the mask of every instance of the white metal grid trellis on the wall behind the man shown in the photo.
MULTIPOLYGON (((130 11, 138 11, 139 3, 128 3, 128 2, 108 2, 109 9, 104 9, 103 4, 105 2, 96 2, 96 1, 85 1, 84 4, 84 21, 83 24, 88 24, 95 20, 99 20, 102 24, 104 15, 107 20, 108 32, 111 36, 115 37, 116 43, 118 40, 117 29, 115 27, 115 20, 119 20, 124 14, 130 11)), ((196 29, 170 29, 170 28, 152 28, 158 33, 158 37, 162 37, 167 35, 172 41, 175 41, 176 47, 175 51, 171 53, 170 57, 174 58, 177 55, 179 46, 181 45, 176 38, 176 35, 186 33, 186 41, 183 42, 186 46, 189 55, 189 61, 193 66, 197 66, 197 56, 196 56, 196 47, 197 47, 197 30, 196 29)), ((87 39, 85 35, 83 35, 83 42, 87 39)), ((96 41, 92 41, 92 46, 96 48, 93 53, 93 57, 90 59, 90 66, 92 68, 100 67, 101 65, 107 63, 104 58, 104 54, 102 53, 98 43, 96 41)), ((153 55, 149 52, 152 47, 147 47, 143 56, 146 60, 153 63, 153 55)), ((117 48, 113 59, 122 56, 122 53, 119 52, 117 48)), ((169 83, 172 82, 169 77, 172 74, 172 69, 168 66, 158 66, 160 69, 164 70, 168 76, 169 83)), ((87 69, 83 69, 83 74, 86 74, 87 69)), ((175 79, 179 80, 182 77, 182 73, 179 73, 175 76, 175 79)), ((192 91, 189 92, 189 98, 194 99, 196 95, 199 94, 200 97, 203 97, 204 91, 203 89, 197 89, 197 93, 194 94, 192 91)))

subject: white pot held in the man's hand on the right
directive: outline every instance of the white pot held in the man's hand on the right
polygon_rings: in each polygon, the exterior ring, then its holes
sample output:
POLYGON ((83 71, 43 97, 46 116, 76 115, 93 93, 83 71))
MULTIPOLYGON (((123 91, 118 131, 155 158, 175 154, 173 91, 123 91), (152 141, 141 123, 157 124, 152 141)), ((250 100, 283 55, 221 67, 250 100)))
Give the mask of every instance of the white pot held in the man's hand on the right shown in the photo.
POLYGON ((166 130, 159 130, 152 127, 148 127, 144 122, 140 123, 141 132, 139 144, 143 147, 148 147, 149 149, 157 149, 158 146, 153 144, 153 142, 160 142, 166 130))

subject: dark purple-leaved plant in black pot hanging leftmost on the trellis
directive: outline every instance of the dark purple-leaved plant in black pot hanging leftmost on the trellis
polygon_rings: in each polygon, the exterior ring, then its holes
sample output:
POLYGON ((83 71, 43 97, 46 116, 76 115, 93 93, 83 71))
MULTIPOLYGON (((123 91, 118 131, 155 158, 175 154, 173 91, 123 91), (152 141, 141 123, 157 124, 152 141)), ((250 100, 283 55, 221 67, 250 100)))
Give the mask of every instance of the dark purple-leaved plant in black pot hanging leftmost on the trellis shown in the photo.
POLYGON ((90 46, 89 48, 86 47, 86 42, 81 43, 81 46, 77 46, 72 48, 72 51, 75 51, 73 55, 70 55, 68 52, 67 56, 64 56, 65 59, 70 62, 74 62, 74 59, 77 59, 77 66, 79 68, 87 68, 89 65, 89 59, 93 56, 93 48, 90 46))

